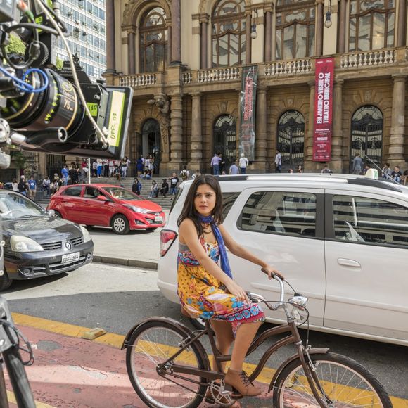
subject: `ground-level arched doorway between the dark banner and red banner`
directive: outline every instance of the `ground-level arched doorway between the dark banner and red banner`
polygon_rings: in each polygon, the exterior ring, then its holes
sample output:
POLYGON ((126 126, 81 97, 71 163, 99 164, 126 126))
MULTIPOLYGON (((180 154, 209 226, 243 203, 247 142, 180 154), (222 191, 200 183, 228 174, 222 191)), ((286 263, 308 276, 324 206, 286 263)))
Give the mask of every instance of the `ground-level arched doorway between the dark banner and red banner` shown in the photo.
POLYGON ((305 117, 298 110, 286 110, 279 117, 278 150, 281 152, 283 170, 303 165, 305 161, 305 117))

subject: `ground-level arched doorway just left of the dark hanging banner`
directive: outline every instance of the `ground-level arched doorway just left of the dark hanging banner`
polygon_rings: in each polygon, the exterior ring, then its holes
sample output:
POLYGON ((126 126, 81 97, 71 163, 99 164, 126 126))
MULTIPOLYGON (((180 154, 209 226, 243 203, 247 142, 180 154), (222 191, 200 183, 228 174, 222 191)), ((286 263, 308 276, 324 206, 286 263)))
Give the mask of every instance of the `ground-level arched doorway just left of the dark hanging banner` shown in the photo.
POLYGON ((227 171, 231 162, 236 160, 236 121, 234 116, 221 115, 214 122, 214 153, 221 153, 227 171))

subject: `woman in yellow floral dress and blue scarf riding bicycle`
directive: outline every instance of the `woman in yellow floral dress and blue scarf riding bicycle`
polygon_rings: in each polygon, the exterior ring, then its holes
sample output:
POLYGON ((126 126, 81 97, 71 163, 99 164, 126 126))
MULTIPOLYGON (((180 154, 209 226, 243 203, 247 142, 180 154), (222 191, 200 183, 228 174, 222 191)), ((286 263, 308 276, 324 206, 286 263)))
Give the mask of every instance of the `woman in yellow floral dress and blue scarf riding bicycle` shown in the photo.
MULTIPOLYGON (((260 265, 272 279, 273 267, 240 246, 222 225, 222 193, 217 179, 196 177, 178 219, 178 289, 181 306, 193 318, 210 319, 217 349, 228 354, 235 339, 225 383, 243 396, 260 395, 242 371, 243 359, 264 312, 252 304, 232 279, 226 247, 234 255, 260 265)), ((223 367, 224 368, 224 367, 223 367)))

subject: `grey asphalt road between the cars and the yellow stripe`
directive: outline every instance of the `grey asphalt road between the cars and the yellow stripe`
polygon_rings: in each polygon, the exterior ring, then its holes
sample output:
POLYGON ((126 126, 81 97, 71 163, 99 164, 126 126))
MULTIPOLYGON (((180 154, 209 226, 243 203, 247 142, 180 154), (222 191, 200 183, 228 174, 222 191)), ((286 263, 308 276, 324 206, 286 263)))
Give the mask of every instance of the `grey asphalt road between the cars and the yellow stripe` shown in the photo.
MULTIPOLYGON (((90 264, 70 274, 34 281, 15 281, 1 293, 13 312, 43 317, 69 324, 102 327, 125 334, 137 322, 151 316, 167 316, 184 321, 179 305, 165 299, 156 286, 157 274, 148 269, 90 264)), ((264 325, 267 326, 267 325, 264 325)), ((306 331, 302 332, 306 337, 306 331)), ((265 350, 272 343, 262 346, 265 350)), ((310 332, 310 343, 348 355, 368 367, 385 385, 390 395, 408 399, 408 350, 402 346, 310 332)), ((259 350, 249 362, 256 362, 259 350)), ((271 357, 276 368, 293 350, 286 348, 271 357)))

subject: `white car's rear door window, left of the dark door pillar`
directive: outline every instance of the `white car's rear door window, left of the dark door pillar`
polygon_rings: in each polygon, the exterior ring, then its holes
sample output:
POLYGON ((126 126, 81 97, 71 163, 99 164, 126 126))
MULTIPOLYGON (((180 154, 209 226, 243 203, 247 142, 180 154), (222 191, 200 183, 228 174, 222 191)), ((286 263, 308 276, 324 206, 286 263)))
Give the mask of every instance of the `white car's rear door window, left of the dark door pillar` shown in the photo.
POLYGON ((238 219, 238 228, 269 234, 316 236, 316 196, 311 193, 253 193, 238 219))

